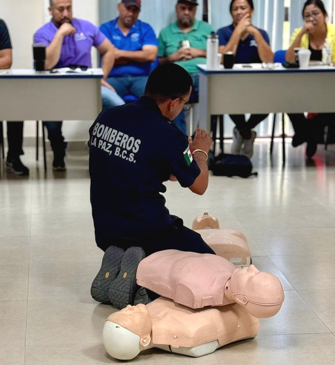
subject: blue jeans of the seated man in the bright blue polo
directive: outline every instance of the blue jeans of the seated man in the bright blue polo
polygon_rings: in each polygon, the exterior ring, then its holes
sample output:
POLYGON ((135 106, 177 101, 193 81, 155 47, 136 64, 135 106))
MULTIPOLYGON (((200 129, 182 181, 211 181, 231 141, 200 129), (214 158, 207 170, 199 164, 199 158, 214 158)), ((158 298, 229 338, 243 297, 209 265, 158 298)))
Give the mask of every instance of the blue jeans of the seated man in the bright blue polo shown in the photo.
POLYGON ((109 77, 106 81, 113 86, 119 96, 132 94, 140 98, 144 94, 148 76, 109 77))

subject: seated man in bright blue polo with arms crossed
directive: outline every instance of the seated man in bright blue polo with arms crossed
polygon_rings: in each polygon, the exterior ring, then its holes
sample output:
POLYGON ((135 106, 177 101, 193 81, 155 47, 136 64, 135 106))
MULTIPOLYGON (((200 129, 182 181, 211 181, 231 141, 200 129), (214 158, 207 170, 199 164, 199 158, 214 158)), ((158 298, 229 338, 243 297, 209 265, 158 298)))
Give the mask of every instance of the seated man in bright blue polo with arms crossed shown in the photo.
POLYGON ((141 0, 122 0, 119 16, 100 30, 115 46, 115 66, 107 81, 119 96, 141 97, 157 57, 157 39, 152 27, 137 20, 141 0))

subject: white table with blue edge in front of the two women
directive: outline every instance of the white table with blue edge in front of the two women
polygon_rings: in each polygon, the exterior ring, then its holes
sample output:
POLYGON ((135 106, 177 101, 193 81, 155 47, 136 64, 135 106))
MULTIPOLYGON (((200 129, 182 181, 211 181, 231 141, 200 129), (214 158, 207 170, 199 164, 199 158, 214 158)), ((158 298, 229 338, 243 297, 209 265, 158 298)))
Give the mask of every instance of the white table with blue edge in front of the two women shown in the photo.
POLYGON ((211 115, 335 112, 335 67, 198 69, 200 125, 206 130, 211 115))

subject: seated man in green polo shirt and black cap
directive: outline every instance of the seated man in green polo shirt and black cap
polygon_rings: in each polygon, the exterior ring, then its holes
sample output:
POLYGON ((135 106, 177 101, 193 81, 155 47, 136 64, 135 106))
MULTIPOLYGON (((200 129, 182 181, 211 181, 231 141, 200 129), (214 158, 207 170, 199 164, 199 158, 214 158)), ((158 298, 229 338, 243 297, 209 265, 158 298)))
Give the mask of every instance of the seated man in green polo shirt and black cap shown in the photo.
MULTIPOLYGON (((213 28, 195 19, 197 0, 178 0, 177 21, 164 28, 159 35, 159 63, 174 62, 182 66, 193 78, 191 97, 198 98, 198 64, 206 63, 206 44, 213 28)), ((182 110, 174 120, 176 126, 186 133, 185 113, 182 110)))

